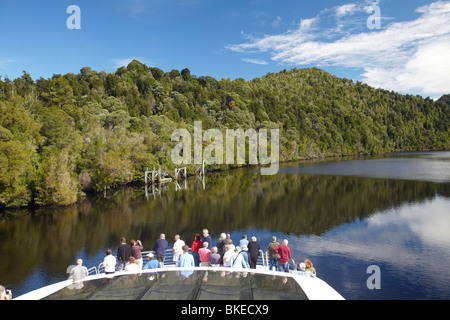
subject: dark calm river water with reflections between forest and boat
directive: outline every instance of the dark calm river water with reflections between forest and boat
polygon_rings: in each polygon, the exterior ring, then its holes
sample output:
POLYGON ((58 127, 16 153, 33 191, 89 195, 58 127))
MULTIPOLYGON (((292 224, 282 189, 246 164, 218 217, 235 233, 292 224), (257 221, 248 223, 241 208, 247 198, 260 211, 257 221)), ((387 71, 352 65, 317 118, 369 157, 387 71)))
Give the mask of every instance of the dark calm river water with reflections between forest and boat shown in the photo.
POLYGON ((290 163, 273 176, 237 169, 180 187, 4 215, 0 284, 17 297, 65 280, 77 258, 97 266, 122 236, 151 250, 160 233, 190 245, 207 228, 214 243, 222 232, 262 248, 288 239, 293 258, 309 258, 346 299, 450 299, 450 152, 290 163))

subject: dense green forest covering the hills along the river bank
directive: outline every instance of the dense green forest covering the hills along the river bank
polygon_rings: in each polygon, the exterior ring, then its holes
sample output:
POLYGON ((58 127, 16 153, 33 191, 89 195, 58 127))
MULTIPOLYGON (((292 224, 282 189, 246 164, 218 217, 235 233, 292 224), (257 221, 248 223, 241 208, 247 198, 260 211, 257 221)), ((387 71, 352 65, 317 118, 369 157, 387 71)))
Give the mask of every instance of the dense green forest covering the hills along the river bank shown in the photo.
POLYGON ((317 68, 250 81, 136 60, 114 73, 24 71, 0 77, 0 207, 67 205, 82 190, 143 181, 146 168, 173 169, 171 135, 194 121, 278 128, 280 161, 450 149, 450 96, 401 95, 317 68))

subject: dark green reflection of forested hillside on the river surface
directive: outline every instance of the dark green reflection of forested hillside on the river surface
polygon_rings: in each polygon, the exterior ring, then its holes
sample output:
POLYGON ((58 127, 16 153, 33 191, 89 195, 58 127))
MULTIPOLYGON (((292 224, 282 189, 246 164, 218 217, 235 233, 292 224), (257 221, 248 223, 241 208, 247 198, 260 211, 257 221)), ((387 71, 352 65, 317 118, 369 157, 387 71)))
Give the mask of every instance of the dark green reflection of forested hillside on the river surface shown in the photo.
POLYGON ((175 190, 166 184, 155 197, 144 186, 124 187, 109 191, 106 198, 89 196, 76 206, 7 215, 0 221, 1 282, 20 286, 39 268, 65 279, 66 267, 80 254, 96 259, 88 267, 97 265, 107 248, 115 252, 122 236, 140 239, 146 250, 160 233, 168 239, 179 234, 190 245, 203 228, 215 240, 221 232, 248 229, 256 230, 256 237, 258 230, 320 236, 404 203, 450 196, 449 184, 290 173, 261 176, 246 169, 209 175, 205 188, 196 177, 186 185, 175 190))

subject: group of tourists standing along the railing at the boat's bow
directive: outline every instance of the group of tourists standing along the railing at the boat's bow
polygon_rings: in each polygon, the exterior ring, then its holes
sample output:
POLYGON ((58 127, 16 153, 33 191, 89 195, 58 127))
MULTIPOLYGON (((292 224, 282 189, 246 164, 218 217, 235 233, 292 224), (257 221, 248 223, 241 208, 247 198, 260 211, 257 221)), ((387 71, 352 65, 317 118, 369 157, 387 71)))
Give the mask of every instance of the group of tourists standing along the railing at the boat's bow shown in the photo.
MULTIPOLYGON (((235 245, 230 234, 222 233, 215 246, 213 246, 212 241, 208 229, 203 229, 202 235, 195 234, 190 247, 178 234, 175 235, 172 247, 175 266, 256 268, 261 251, 261 246, 256 237, 253 236, 248 240, 247 235, 244 234, 239 243, 235 245), (191 252, 189 252, 189 249, 191 252)), ((128 244, 126 239, 122 237, 116 256, 112 254, 111 249, 106 251, 106 257, 102 263, 105 268, 105 274, 113 274, 122 270, 140 272, 146 269, 163 268, 168 247, 169 243, 165 234, 160 234, 153 244, 152 252, 147 255, 148 262, 144 265, 142 257, 144 247, 141 241, 132 239, 130 244, 128 244)), ((273 236, 266 251, 268 253, 269 270, 289 272, 291 250, 287 239, 279 243, 277 238, 273 236)), ((316 271, 309 259, 297 264, 295 272, 312 277, 316 276, 316 271)), ((82 266, 82 260, 78 259, 77 267, 71 270, 69 278, 78 280, 85 276, 87 276, 87 269, 82 266)))

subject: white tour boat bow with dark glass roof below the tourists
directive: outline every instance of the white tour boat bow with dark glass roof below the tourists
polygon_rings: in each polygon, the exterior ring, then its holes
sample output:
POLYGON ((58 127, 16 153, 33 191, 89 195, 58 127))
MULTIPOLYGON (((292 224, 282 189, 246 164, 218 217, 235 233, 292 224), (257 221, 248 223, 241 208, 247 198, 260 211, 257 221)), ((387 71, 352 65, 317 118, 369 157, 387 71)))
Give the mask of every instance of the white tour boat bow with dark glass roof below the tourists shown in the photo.
MULTIPOLYGON (((260 252, 256 269, 175 267, 167 251, 164 268, 105 274, 101 264, 79 281, 64 280, 14 300, 343 300, 318 277, 301 275, 294 260, 289 273, 268 269, 260 252)), ((142 253, 147 259, 147 252, 142 253)), ((146 261, 144 261, 145 265, 146 261)))

